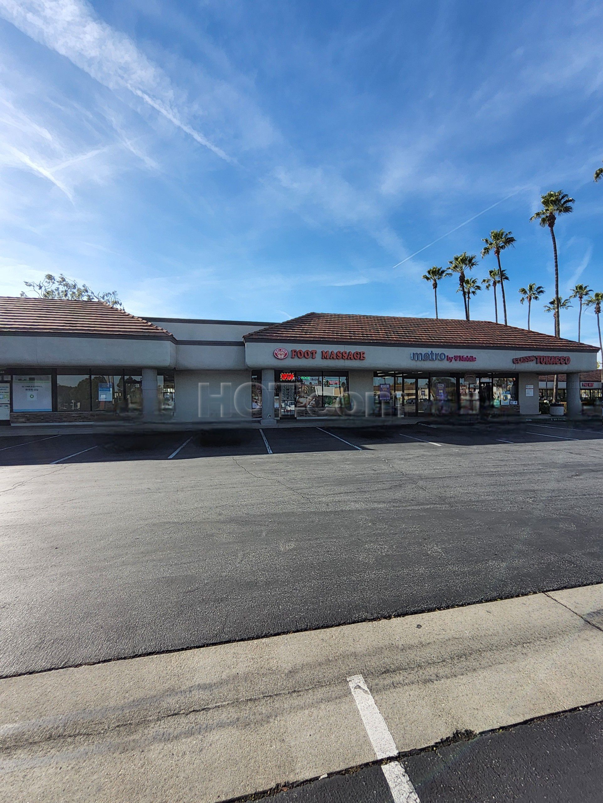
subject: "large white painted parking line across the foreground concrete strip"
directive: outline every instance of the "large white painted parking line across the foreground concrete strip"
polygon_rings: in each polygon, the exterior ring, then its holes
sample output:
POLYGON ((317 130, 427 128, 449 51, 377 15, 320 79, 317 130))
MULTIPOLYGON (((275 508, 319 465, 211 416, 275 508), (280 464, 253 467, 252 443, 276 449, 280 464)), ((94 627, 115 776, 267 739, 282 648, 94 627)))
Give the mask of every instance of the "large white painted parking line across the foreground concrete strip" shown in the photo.
MULTIPOLYGON (((375 703, 365 679, 362 675, 352 675, 351 678, 348 678, 348 684, 377 758, 397 756, 396 743, 389 732, 385 719, 381 716, 381 711, 377 708, 377 703, 375 703)), ((394 803, 420 803, 413 783, 399 761, 383 764, 381 769, 394 803)))

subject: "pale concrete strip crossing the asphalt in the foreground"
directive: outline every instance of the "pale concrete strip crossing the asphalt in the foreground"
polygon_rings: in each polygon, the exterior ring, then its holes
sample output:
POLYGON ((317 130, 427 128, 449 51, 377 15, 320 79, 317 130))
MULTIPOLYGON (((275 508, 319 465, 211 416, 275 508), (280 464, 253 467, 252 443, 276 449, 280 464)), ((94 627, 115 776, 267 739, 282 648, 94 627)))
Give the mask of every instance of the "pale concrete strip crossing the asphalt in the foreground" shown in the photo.
POLYGON ((6 801, 225 801, 603 699, 603 585, 0 681, 6 801))

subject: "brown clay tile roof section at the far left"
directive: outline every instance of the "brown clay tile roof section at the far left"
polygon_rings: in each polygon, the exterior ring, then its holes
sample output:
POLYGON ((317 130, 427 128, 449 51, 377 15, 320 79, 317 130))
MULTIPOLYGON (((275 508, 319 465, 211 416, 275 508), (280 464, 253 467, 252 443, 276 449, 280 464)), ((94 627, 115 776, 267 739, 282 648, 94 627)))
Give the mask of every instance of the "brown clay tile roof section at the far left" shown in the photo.
POLYGON ((149 324, 102 301, 0 296, 0 334, 92 335, 173 340, 166 329, 149 324))

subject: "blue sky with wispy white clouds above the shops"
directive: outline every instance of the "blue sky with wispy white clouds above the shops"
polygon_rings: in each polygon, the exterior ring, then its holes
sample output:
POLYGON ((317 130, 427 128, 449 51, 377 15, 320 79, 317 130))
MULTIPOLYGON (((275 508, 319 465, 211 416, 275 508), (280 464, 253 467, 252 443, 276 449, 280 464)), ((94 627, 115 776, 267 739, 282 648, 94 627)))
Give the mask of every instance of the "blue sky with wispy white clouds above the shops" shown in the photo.
POLYGON ((603 290, 601 30, 568 0, 0 0, 0 293, 62 271, 149 316, 432 316, 426 268, 504 228, 525 325, 547 190, 576 198, 562 292, 603 290))

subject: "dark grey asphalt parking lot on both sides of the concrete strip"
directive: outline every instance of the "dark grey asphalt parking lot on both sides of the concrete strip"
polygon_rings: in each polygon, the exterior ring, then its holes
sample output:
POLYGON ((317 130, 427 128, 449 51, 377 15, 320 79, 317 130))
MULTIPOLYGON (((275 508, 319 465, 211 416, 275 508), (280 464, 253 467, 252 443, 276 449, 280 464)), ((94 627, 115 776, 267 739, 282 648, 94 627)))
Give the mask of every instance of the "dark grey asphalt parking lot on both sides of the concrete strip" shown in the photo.
MULTIPOLYGON (((2 438, 0 675, 600 583, 602 439, 593 422, 2 438)), ((596 800, 600 709, 567 717, 405 768, 423 803, 596 800)), ((391 793, 371 766, 271 799, 391 793)))

